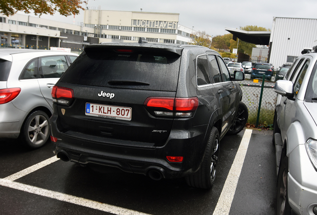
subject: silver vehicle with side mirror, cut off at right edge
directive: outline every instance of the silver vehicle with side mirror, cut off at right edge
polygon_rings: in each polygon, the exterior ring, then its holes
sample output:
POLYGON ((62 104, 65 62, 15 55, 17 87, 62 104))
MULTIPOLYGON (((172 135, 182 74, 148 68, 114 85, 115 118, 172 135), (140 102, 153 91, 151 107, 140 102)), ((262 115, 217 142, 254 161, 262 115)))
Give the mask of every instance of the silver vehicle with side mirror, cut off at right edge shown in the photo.
POLYGON ((277 215, 317 215, 317 49, 296 59, 278 93, 273 143, 277 215))

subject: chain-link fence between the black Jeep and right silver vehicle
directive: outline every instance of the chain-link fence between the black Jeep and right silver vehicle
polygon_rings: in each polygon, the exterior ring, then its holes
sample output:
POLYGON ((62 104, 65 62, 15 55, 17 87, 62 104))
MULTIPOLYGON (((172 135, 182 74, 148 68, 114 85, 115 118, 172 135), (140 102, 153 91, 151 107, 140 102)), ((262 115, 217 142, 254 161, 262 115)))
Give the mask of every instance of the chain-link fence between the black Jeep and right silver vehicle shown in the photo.
POLYGON ((242 102, 249 109, 248 123, 256 126, 270 126, 273 124, 274 109, 277 98, 277 94, 274 92, 275 82, 266 81, 264 83, 261 107, 259 111, 262 80, 258 80, 258 83, 254 83, 252 79, 248 80, 248 78, 248 75, 246 75, 247 80, 239 82, 243 92, 242 102))

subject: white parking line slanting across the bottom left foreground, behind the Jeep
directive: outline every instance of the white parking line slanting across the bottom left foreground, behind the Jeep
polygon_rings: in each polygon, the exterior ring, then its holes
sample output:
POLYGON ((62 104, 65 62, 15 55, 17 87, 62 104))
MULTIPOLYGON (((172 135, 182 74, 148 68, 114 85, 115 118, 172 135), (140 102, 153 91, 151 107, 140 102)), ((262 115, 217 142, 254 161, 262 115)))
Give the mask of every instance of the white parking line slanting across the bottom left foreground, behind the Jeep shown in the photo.
POLYGON ((10 180, 0 179, 0 185, 15 189, 15 190, 24 191, 27 193, 36 194, 39 196, 48 197, 51 199, 56 199, 59 201, 72 203, 75 205, 84 206, 84 207, 99 210, 99 211, 108 212, 115 215, 147 215, 137 211, 128 210, 128 209, 124 209, 124 208, 120 208, 120 207, 116 207, 116 206, 112 206, 108 204, 103 204, 100 202, 87 200, 84 198, 75 197, 75 196, 71 196, 71 195, 67 195, 67 194, 63 194, 63 193, 59 193, 55 191, 50 191, 50 190, 46 190, 42 188, 37 188, 30 185, 21 184, 18 182, 13 182, 10 180))

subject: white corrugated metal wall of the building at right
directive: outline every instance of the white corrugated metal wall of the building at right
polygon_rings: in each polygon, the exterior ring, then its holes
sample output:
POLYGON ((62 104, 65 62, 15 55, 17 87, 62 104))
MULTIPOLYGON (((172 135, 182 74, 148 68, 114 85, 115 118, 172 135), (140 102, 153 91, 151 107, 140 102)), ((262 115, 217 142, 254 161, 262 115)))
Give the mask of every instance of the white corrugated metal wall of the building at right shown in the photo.
POLYGON ((316 40, 317 19, 274 17, 270 63, 278 69, 287 63, 287 56, 300 56, 301 51, 312 48, 316 40))

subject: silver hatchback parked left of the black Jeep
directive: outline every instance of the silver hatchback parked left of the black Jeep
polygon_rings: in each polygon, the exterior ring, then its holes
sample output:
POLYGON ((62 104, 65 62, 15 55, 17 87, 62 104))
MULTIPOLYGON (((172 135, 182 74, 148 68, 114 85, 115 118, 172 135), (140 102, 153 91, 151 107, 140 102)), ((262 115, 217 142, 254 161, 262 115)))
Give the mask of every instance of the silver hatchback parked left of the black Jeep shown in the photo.
POLYGON ((0 49, 0 138, 20 137, 30 148, 49 138, 51 90, 77 54, 0 49))

